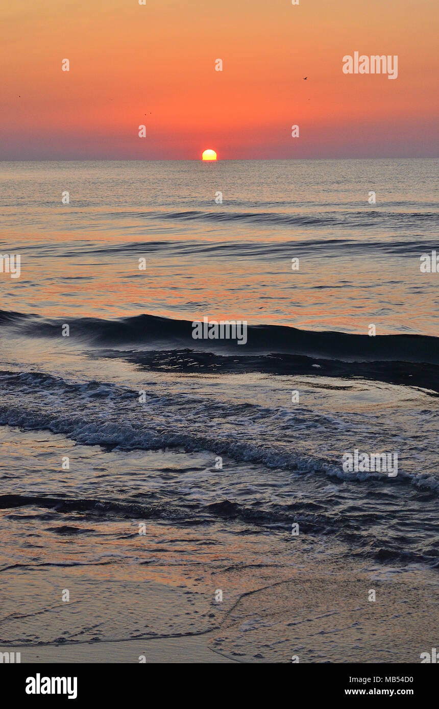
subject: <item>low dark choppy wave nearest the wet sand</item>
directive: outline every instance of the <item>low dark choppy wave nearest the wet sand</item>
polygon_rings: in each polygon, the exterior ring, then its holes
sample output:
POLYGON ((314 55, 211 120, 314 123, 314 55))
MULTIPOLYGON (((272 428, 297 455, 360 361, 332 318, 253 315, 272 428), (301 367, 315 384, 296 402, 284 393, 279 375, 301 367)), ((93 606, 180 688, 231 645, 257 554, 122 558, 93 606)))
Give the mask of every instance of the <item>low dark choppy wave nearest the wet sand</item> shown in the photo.
MULTIPOLYGON (((135 499, 120 499, 116 497, 82 497, 53 496, 50 494, 21 494, 10 493, 0 495, 0 510, 14 510, 17 508, 33 508, 32 518, 38 517, 47 520, 47 513, 38 513, 37 510, 50 510, 51 515, 57 515, 62 525, 53 527, 52 532, 61 535, 94 535, 94 527, 72 527, 65 524, 72 520, 72 515, 79 513, 81 520, 93 523, 97 520, 164 520, 170 523, 184 525, 209 525, 216 520, 239 521, 252 526, 260 527, 262 533, 268 530, 291 533, 291 520, 299 524, 301 534, 311 537, 334 537, 348 545, 350 554, 356 557, 375 559, 379 562, 400 562, 410 564, 423 563, 431 568, 439 566, 437 543, 434 537, 426 535, 422 540, 413 540, 408 535, 399 535, 395 540, 390 534, 377 538, 374 534, 377 519, 369 520, 372 533, 367 529, 367 515, 362 516, 362 527, 359 530, 358 521, 344 515, 334 514, 332 510, 315 510, 312 503, 302 500, 294 504, 272 504, 264 508, 260 503, 253 506, 249 503, 242 504, 228 498, 221 498, 213 503, 191 501, 188 503, 183 497, 170 500, 159 499, 146 503, 135 499)), ((11 512, 9 513, 11 515, 11 512)), ((384 520, 385 521, 385 520, 384 520)), ((72 562, 70 562, 72 563, 72 562)), ((81 563, 81 562, 73 562, 81 563)), ((105 562, 101 562, 105 563, 105 562)), ((150 563, 143 562, 143 563, 150 563)), ((51 564, 43 564, 50 566, 51 564)), ((64 564, 55 564, 64 565, 64 564)), ((14 564, 14 566, 17 566, 14 564)), ((20 564, 18 564, 20 566, 20 564)), ((11 568, 11 566, 6 566, 11 568)), ((5 569, 0 569, 4 571, 5 569)))

